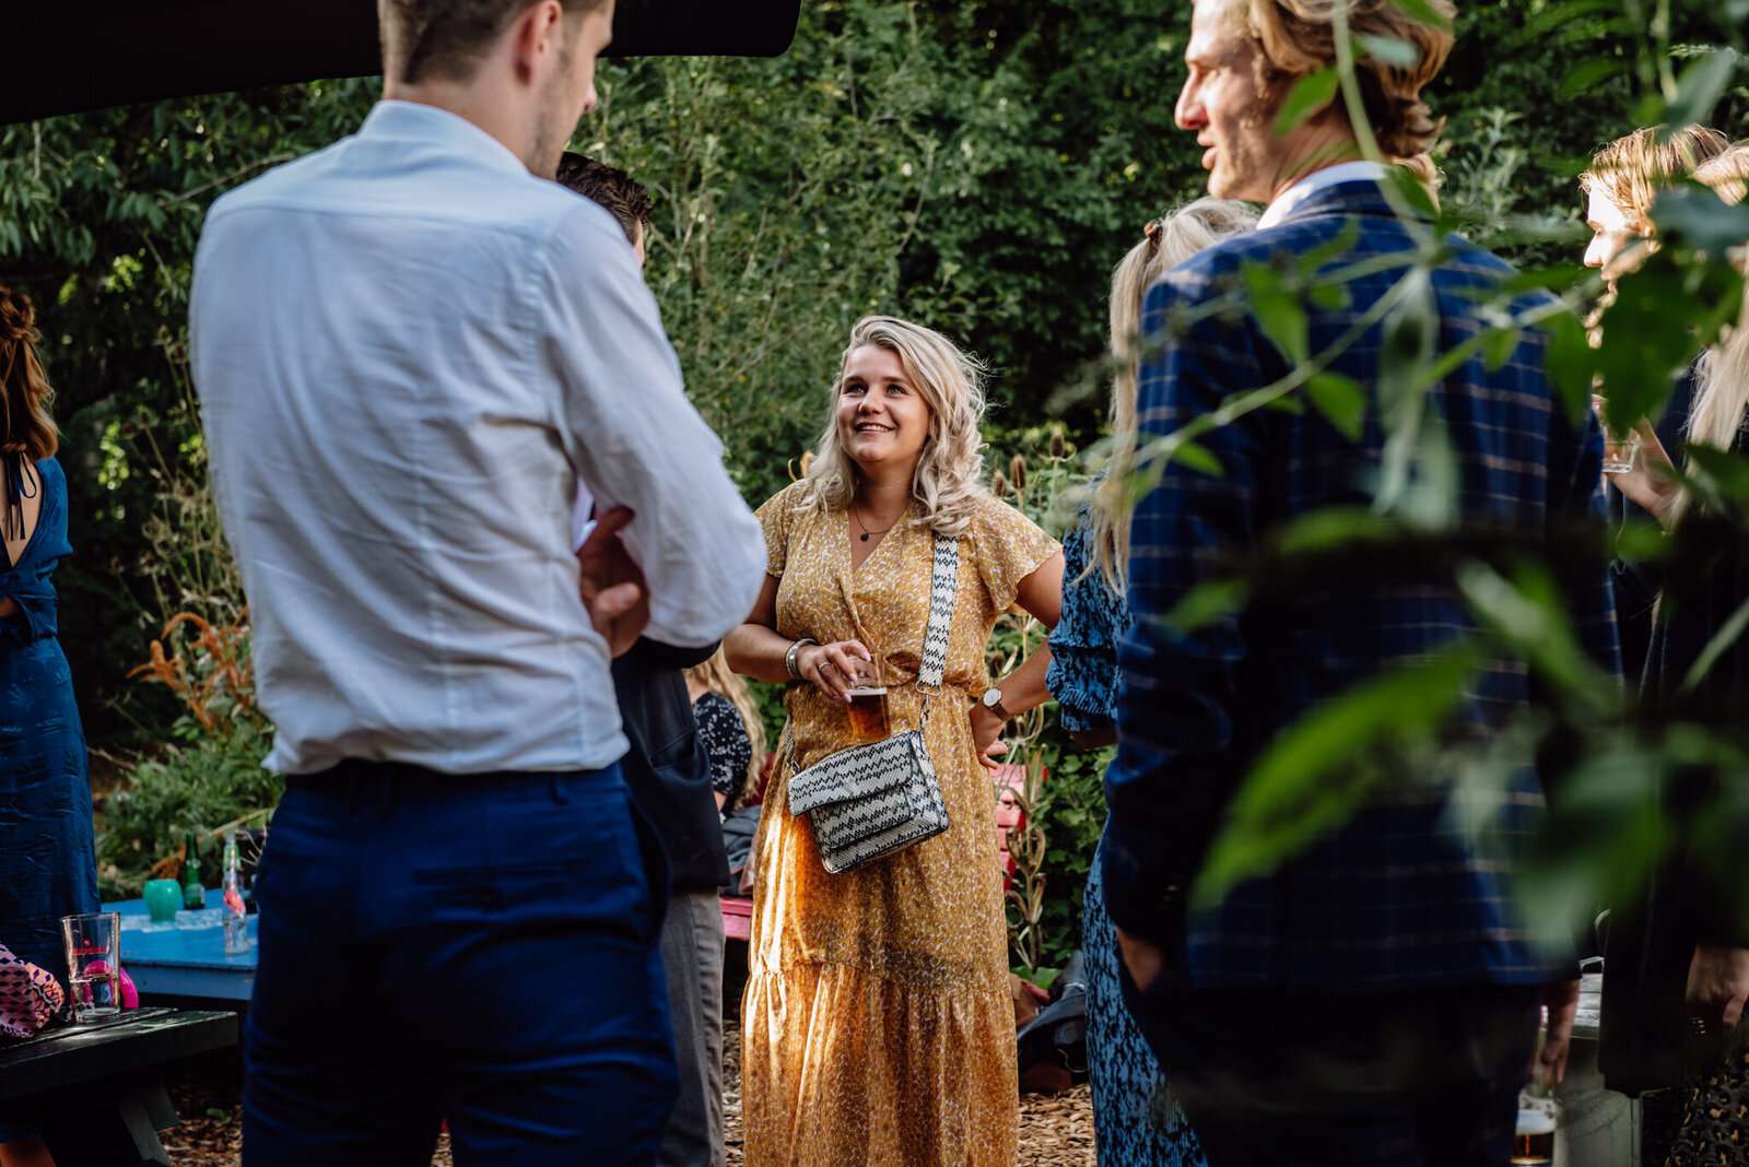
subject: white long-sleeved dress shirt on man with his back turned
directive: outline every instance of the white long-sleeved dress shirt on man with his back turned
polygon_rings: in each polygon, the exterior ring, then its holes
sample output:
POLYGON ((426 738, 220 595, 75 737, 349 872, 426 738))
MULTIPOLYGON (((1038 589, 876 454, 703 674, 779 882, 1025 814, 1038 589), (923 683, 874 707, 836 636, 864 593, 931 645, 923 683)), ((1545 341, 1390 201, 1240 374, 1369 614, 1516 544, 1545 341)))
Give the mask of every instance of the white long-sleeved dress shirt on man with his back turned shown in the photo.
POLYGON ((383 101, 219 199, 189 327, 269 767, 623 755, 579 480, 637 512, 647 636, 707 645, 752 610, 759 524, 624 232, 470 122, 383 101))

